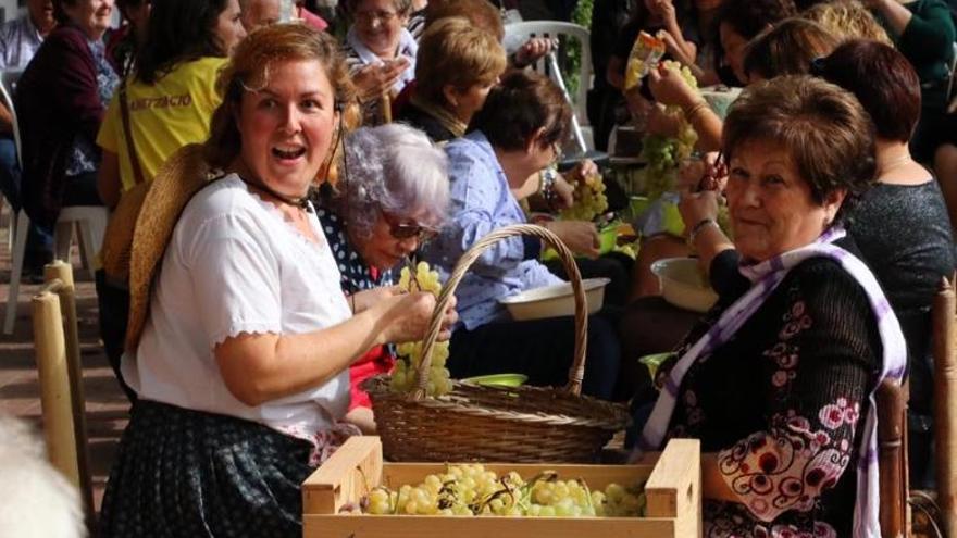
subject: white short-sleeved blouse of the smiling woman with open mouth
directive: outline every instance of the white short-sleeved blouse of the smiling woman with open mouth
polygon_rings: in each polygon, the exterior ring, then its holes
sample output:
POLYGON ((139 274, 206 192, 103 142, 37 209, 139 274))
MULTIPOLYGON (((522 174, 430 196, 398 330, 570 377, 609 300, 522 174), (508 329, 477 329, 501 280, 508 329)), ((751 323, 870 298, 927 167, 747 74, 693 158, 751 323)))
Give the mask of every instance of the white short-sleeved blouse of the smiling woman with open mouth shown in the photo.
MULTIPOLYGON (((183 212, 162 261, 150 316, 123 374, 140 398, 259 422, 312 439, 349 403, 349 373, 259 406, 226 388, 213 348, 241 333, 301 334, 351 315, 339 272, 314 213, 320 245, 231 175, 183 212)), ((316 350, 315 360, 323 360, 316 350)))

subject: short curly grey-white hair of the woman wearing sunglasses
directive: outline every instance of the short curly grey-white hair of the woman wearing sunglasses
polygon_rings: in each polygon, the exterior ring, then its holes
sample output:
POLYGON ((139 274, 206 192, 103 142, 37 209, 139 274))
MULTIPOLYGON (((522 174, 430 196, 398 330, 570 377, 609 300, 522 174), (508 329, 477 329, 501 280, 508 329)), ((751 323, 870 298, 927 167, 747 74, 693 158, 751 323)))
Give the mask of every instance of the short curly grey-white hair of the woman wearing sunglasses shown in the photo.
POLYGON ((448 159, 424 133, 394 123, 349 134, 336 213, 360 238, 372 236, 378 210, 439 228, 448 217, 448 159))

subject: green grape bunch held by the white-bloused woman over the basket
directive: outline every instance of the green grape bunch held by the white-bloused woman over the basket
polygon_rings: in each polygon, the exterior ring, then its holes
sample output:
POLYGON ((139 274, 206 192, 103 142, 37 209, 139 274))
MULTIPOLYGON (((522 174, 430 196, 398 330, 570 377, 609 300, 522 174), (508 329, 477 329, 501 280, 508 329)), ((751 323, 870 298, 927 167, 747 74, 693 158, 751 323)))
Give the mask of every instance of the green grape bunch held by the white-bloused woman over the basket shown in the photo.
MULTIPOLYGON (((399 287, 406 291, 430 291, 435 297, 442 292, 442 281, 438 272, 432 271, 427 263, 419 262, 415 273, 409 267, 402 267, 399 274, 399 287)), ((435 342, 432 347, 432 363, 428 372, 428 385, 425 392, 428 396, 443 396, 452 391, 451 375, 445 367, 449 356, 448 341, 435 342)), ((417 373, 422 363, 422 348, 420 342, 406 342, 396 346, 396 367, 393 370, 389 386, 394 392, 412 392, 417 387, 417 373)))

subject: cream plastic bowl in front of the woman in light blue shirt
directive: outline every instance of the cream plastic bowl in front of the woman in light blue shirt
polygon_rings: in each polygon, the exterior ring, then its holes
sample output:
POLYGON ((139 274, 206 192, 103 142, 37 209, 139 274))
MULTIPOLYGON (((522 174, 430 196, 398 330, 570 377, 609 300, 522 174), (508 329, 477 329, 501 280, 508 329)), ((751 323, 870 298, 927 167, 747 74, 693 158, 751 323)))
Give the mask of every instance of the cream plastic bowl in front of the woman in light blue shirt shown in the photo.
MULTIPOLYGON (((608 278, 585 278, 582 280, 589 314, 601 310, 601 304, 605 302, 605 286, 609 281, 608 278)), ((575 296, 572 292, 571 284, 530 289, 499 299, 498 302, 505 304, 512 320, 517 322, 575 315, 575 296)))

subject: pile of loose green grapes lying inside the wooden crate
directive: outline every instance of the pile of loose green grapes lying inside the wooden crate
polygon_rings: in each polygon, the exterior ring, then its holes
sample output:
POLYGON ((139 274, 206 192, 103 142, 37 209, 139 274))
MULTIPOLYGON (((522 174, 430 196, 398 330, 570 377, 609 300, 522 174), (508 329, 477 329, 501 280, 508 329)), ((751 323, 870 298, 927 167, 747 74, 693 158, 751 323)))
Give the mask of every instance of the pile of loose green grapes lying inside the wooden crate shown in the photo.
POLYGON ((515 472, 499 477, 481 464, 448 465, 415 486, 375 488, 362 506, 369 514, 393 515, 639 517, 643 489, 609 484, 592 491, 584 480, 561 480, 554 471, 525 480, 515 472))

